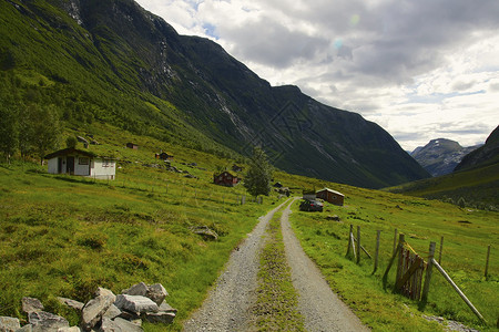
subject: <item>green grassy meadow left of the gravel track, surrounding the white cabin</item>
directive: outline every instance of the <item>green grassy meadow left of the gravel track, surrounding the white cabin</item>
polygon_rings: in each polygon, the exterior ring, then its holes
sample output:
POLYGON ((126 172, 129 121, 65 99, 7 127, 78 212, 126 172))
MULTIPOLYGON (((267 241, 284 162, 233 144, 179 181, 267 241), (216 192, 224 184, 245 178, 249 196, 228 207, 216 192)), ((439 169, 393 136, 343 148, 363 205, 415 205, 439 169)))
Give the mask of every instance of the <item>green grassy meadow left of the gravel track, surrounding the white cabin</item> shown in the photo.
POLYGON ((257 205, 246 195, 241 205, 243 186, 213 185, 215 169, 234 160, 100 129, 108 134, 98 128, 102 145, 91 149, 119 158, 115 180, 49 175, 35 160, 0 164, 0 315, 26 320, 21 298, 35 297, 74 324, 77 313, 57 297, 86 301, 99 286, 120 293, 141 281, 161 282, 179 314, 173 325, 145 330, 177 331, 232 249, 277 199, 257 205), (139 151, 124 148, 129 141, 139 151), (160 148, 175 156, 173 166, 197 178, 144 166, 163 163, 154 159, 160 148), (196 226, 215 230, 218 240, 193 234, 196 226))

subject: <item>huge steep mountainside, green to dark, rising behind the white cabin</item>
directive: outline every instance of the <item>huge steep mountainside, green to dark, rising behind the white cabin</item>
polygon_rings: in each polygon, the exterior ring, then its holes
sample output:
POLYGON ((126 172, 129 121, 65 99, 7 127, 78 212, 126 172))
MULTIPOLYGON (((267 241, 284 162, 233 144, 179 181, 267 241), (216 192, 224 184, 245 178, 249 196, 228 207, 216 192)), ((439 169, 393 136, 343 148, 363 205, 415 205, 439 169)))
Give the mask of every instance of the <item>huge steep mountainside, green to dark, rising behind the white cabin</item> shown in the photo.
POLYGON ((429 176, 377 124, 271 86, 132 0, 7 0, 0 22, 9 110, 35 103, 68 127, 106 122, 221 156, 261 145, 284 170, 361 187, 429 176))

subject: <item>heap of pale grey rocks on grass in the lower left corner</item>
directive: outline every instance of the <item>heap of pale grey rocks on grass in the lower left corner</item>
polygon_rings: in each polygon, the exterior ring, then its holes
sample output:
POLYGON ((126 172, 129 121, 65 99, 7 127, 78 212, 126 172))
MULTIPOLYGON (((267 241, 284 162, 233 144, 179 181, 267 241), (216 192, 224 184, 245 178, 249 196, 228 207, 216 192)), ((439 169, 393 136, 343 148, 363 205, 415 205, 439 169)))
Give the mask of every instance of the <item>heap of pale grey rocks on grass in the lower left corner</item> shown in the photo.
POLYGON ((141 282, 123 290, 118 297, 108 289, 99 288, 86 303, 58 298, 61 303, 81 311, 80 326, 70 326, 64 318, 43 311, 40 300, 23 298, 22 310, 28 314, 29 323, 21 328, 19 319, 0 317, 0 332, 143 331, 143 320, 164 324, 173 322, 176 309, 164 302, 167 295, 161 283, 141 282))

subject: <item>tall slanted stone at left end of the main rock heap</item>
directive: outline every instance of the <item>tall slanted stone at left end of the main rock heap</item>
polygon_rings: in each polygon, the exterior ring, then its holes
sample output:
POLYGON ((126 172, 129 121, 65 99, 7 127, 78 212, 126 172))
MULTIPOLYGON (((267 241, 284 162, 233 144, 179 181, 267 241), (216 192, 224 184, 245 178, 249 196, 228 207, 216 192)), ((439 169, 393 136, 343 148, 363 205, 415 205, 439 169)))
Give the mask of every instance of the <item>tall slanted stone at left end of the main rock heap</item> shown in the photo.
POLYGON ((95 298, 86 302, 81 313, 81 326, 83 330, 91 330, 102 319, 102 315, 116 300, 112 291, 99 288, 95 298))

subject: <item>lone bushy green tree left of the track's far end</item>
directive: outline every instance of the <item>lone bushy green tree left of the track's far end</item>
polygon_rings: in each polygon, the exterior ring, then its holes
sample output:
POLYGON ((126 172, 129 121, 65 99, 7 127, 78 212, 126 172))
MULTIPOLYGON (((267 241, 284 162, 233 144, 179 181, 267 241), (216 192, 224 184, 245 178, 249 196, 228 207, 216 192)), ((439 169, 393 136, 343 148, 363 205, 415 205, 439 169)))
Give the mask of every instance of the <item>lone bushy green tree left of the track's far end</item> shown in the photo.
POLYGON ((255 147, 249 160, 249 169, 244 178, 244 187, 253 196, 271 193, 272 173, 274 167, 268 163, 265 152, 255 147))

